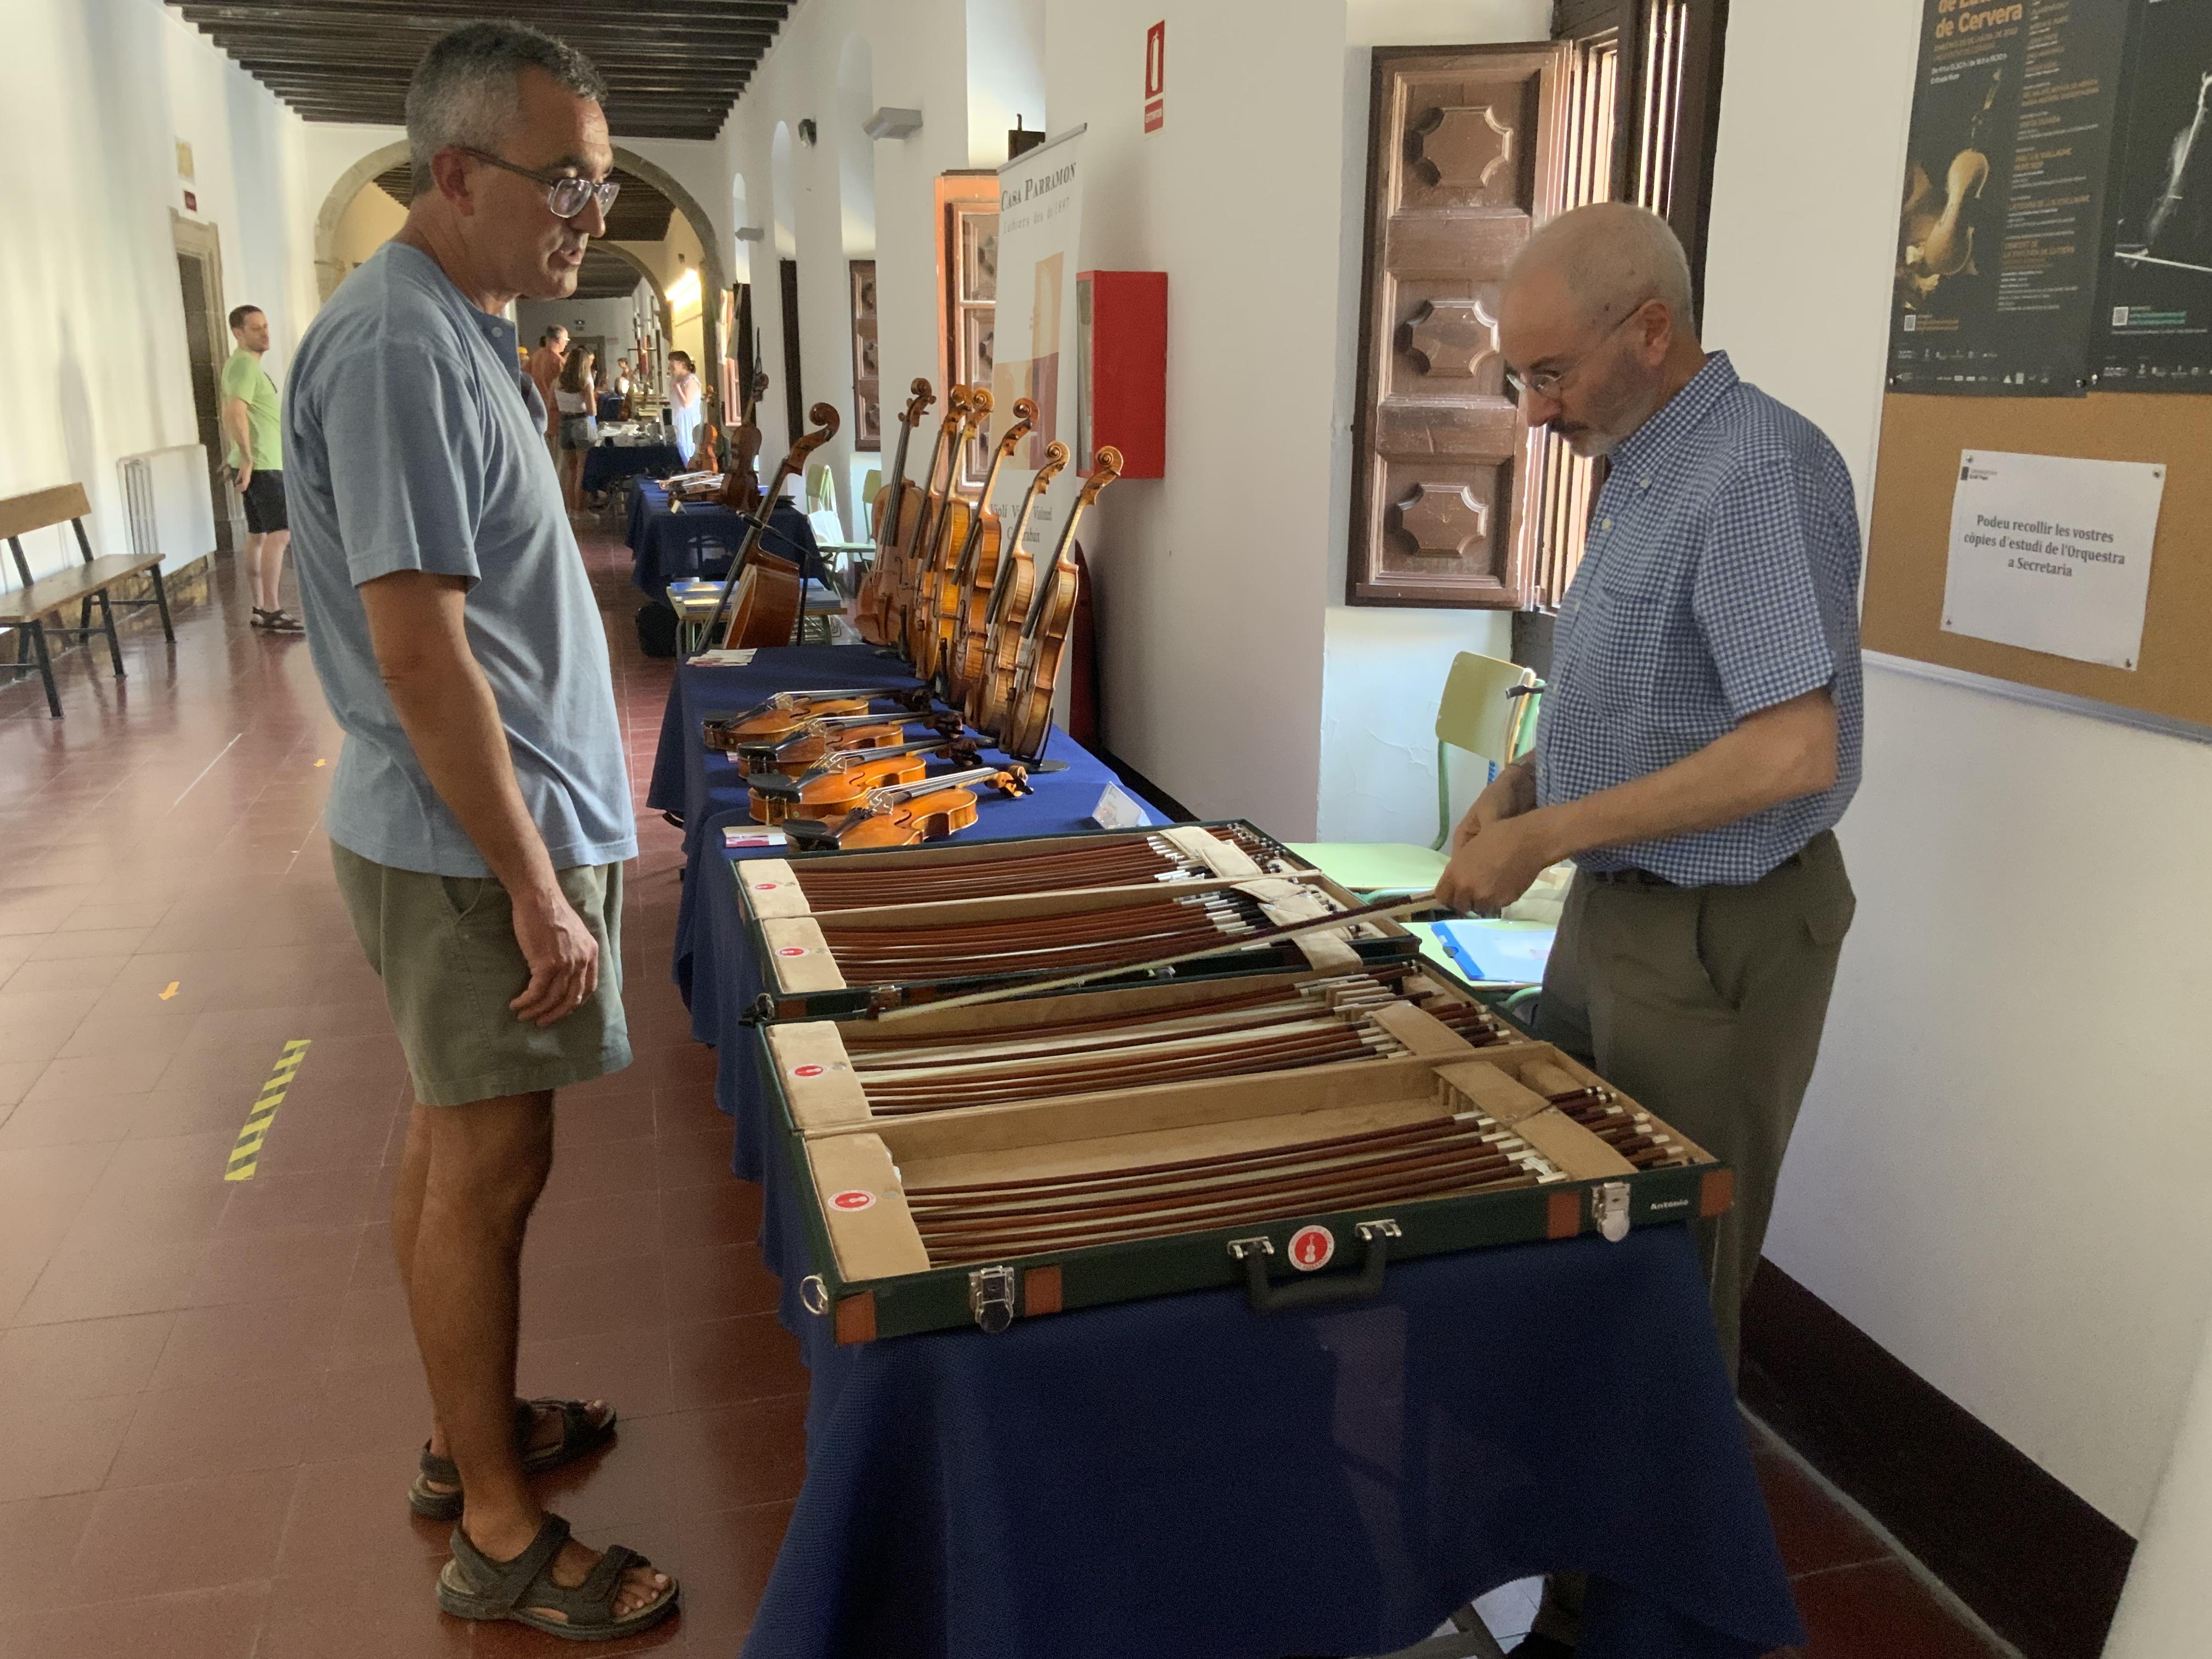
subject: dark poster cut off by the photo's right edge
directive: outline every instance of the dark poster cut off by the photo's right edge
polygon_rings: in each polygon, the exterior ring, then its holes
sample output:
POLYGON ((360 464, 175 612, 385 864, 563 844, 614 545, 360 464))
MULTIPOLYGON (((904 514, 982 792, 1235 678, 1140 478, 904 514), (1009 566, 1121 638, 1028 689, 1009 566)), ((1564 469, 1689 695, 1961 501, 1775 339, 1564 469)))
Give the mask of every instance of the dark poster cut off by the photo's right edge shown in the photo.
POLYGON ((2212 392, 2212 0, 2139 0, 2097 385, 2212 392))

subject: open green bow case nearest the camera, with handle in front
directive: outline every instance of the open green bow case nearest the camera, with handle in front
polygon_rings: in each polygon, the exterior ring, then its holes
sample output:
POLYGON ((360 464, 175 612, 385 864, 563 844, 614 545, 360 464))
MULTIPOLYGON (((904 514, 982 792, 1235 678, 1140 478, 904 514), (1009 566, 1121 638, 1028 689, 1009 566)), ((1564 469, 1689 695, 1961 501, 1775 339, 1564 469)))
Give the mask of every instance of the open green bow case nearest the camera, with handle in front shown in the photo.
POLYGON ((841 1343, 1723 1212, 1703 1148, 1425 964, 761 1029, 841 1343))

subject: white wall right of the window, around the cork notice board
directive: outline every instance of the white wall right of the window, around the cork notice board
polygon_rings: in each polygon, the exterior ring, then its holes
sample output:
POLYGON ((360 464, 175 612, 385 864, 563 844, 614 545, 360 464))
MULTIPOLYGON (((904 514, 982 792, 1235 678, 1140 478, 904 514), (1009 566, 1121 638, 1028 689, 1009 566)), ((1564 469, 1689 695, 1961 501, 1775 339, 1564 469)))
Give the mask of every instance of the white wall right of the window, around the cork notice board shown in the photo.
MULTIPOLYGON (((1739 4, 1728 33, 1708 341, 1863 509, 1918 20, 1739 4)), ((2212 748, 1869 668, 1858 925, 1767 1237, 2128 1531, 2212 1303, 2205 823, 2212 748)))

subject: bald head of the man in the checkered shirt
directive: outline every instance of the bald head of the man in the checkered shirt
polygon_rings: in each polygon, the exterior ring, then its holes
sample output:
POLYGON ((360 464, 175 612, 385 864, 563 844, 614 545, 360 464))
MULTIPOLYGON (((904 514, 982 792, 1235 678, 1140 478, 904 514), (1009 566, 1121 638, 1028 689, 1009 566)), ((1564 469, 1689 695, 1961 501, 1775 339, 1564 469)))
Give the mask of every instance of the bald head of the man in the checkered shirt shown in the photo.
POLYGON ((1546 223, 1506 268, 1498 347, 1528 425, 1608 453, 1705 363, 1668 221, 1601 201, 1546 223))

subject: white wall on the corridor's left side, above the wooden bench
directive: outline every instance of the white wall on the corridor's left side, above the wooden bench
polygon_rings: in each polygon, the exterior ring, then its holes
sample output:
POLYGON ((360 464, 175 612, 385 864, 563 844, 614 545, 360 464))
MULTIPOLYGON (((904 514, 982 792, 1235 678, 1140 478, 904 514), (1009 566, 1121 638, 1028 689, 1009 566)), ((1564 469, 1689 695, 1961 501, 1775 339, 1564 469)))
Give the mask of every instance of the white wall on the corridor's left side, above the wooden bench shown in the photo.
MULTIPOLYGON (((303 124, 157 0, 11 0, 0 148, 18 159, 0 314, 20 352, 0 495, 82 482, 100 551, 124 551, 115 460, 197 440, 170 210, 197 195, 226 310, 268 312, 281 376, 314 305, 303 124)), ((75 557, 60 533, 24 551, 35 571, 75 557)))

